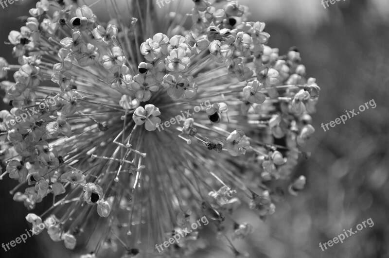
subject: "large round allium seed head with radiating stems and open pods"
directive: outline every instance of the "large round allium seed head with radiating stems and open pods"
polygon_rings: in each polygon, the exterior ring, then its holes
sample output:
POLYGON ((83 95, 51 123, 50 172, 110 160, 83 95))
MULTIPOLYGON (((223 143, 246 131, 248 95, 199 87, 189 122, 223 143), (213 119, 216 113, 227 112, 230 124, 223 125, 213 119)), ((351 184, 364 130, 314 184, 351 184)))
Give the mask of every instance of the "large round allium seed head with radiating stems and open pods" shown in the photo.
MULTIPOLYGON (((128 1, 125 15, 106 2, 108 22, 92 6, 41 0, 10 32, 18 64, 0 57, 0 79, 15 79, 0 83, 12 105, 0 111, 0 179, 18 181, 11 193, 28 209, 53 198, 48 234, 69 249, 85 242, 82 257, 160 257, 155 244, 200 217, 248 257, 230 238, 252 226, 231 214, 244 205, 265 219, 277 202, 266 182, 286 180, 291 194, 305 184, 291 172, 320 88, 303 53, 269 47, 265 23, 238 1, 194 0, 162 23, 151 0, 128 1)), ((204 238, 198 228, 163 255, 204 238)))

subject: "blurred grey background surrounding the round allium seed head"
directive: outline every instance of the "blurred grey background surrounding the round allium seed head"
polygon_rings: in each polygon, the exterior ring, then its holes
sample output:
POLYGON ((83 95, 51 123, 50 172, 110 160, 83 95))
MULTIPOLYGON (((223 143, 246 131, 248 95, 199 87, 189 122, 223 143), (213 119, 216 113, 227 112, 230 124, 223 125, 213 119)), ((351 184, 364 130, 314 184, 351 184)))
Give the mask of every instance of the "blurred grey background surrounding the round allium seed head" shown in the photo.
MULTIPOLYGON (((192 0, 175 0, 170 7, 178 1, 185 1, 184 11, 193 5, 192 0)), ((297 197, 287 196, 265 222, 249 210, 240 210, 239 220, 249 221, 255 231, 245 241, 235 241, 237 248, 248 251, 251 258, 389 258, 389 1, 336 1, 326 9, 320 0, 240 2, 250 7, 251 20, 266 22, 269 46, 280 53, 298 47, 307 74, 317 78, 321 93, 313 115, 316 133, 307 146, 312 155, 301 160, 294 172, 296 177, 307 177, 306 189, 297 197), (320 127, 371 99, 375 109, 326 132, 320 127), (369 218, 373 226, 324 252, 319 247, 369 218)), ((0 42, 8 41, 9 31, 19 30, 18 17, 28 15, 32 7, 35 0, 0 8, 0 42)), ((98 5, 94 8, 98 17, 99 12, 106 13, 98 5)), ((168 10, 157 11, 163 18, 168 10)), ((17 63, 11 51, 10 45, 1 44, 0 56, 17 63)), ((28 211, 9 194, 13 187, 15 181, 8 177, 0 184, 0 243, 15 240, 30 228, 25 220, 28 211)), ((40 203, 35 213, 48 206, 40 203)), ((1 250, 0 257, 76 256, 63 242, 54 243, 41 234, 10 251, 1 250)), ((220 241, 195 257, 227 258, 231 253, 220 241)))

